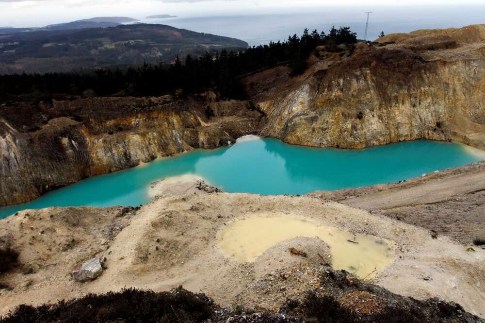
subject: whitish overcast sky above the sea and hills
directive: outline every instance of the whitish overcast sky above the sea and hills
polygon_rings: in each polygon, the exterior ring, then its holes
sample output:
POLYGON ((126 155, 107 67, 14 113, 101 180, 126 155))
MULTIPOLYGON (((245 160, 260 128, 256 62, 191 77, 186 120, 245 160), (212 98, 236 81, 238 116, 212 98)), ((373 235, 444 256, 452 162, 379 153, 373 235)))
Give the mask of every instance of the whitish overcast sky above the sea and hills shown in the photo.
MULTIPOLYGON (((482 5, 484 0, 0 0, 0 26, 33 27, 96 16, 179 17, 305 12, 339 6, 482 5)), ((398 14, 397 14, 398 15, 398 14)))

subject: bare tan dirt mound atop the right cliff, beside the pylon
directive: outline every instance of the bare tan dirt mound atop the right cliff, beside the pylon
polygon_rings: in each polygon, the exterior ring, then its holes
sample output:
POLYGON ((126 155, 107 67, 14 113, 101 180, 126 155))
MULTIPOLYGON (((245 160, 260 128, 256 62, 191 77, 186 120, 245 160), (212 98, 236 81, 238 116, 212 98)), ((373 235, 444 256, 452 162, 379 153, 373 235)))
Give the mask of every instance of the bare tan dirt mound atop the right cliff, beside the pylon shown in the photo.
POLYGON ((470 44, 485 41, 485 24, 470 25, 463 28, 421 29, 408 34, 388 34, 375 40, 379 43, 395 42, 405 45, 430 45, 453 41, 457 44, 470 44))

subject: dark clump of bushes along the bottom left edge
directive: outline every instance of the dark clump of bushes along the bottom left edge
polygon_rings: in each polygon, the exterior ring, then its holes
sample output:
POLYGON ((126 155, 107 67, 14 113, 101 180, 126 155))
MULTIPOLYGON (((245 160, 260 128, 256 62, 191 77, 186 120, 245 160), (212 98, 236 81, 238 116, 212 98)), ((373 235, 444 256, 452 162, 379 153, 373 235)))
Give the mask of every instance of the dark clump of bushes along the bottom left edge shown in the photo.
POLYGON ((88 294, 71 301, 34 307, 20 305, 0 323, 192 323, 210 319, 216 306, 204 294, 182 289, 156 293, 123 289, 106 294, 88 294))

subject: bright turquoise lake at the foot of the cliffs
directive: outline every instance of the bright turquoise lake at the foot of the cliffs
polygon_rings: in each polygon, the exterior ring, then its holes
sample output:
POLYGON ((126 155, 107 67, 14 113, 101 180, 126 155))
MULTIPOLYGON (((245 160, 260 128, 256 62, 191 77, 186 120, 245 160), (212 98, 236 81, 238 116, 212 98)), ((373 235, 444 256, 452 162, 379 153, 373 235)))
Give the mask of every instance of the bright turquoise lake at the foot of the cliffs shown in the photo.
POLYGON ((0 218, 49 206, 135 206, 150 201, 153 181, 193 173, 226 192, 305 194, 396 182, 481 160, 458 143, 410 141, 365 150, 291 146, 259 139, 196 150, 57 189, 32 202, 0 208, 0 218))

